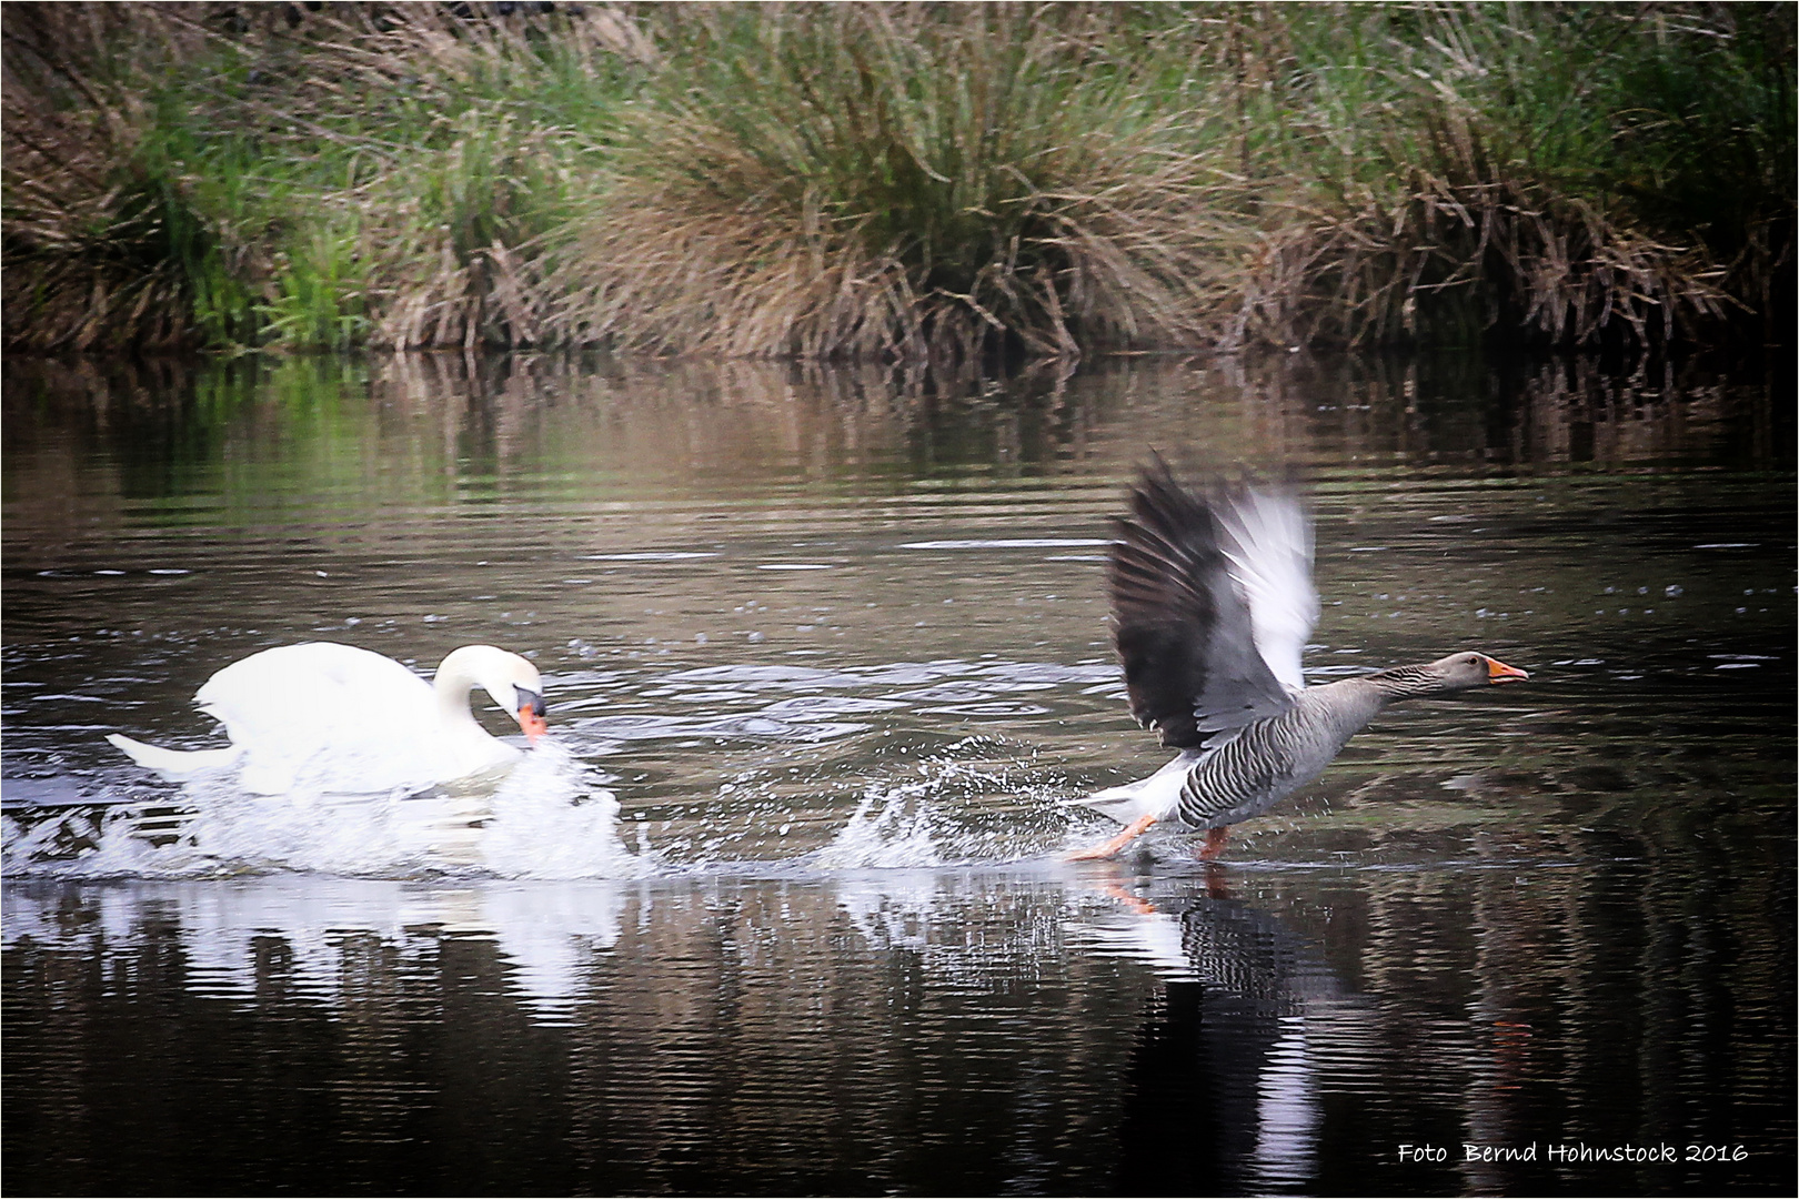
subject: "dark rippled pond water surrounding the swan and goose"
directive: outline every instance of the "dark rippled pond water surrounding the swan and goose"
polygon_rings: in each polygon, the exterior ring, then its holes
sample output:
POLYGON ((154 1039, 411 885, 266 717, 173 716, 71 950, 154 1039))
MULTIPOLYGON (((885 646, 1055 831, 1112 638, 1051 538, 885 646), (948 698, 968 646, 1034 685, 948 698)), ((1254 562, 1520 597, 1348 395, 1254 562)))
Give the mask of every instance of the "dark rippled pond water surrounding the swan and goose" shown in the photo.
POLYGON ((1790 381, 414 358, 4 403, 13 1194, 1794 1186, 1790 381), (1533 681, 1396 708, 1222 863, 1061 863, 1108 829, 1063 802, 1162 760, 1099 561, 1151 448, 1310 476, 1315 681, 1533 681), (216 744, 194 688, 320 638, 527 653, 554 744, 300 804, 101 739, 216 744))

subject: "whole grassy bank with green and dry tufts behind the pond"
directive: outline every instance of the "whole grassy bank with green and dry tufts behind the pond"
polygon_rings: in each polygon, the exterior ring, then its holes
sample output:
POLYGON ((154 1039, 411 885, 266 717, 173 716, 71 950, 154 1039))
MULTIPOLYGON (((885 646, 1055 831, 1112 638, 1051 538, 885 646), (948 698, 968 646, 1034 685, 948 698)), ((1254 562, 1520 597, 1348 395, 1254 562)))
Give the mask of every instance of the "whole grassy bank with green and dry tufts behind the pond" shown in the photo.
POLYGON ((1788 5, 7 5, 11 351, 1790 342, 1788 5))

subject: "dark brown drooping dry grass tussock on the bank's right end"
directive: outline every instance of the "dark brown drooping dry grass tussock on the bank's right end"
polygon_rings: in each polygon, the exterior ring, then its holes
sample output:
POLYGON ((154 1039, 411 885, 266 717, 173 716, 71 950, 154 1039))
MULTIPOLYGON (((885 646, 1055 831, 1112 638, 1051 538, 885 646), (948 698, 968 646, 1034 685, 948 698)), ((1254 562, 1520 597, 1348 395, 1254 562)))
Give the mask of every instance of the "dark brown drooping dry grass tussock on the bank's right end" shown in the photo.
POLYGON ((1668 343, 1745 311, 1729 270, 1592 200, 1495 171, 1457 122, 1452 171, 1409 171, 1398 196, 1288 205, 1243 286, 1240 343, 1511 340, 1668 343))

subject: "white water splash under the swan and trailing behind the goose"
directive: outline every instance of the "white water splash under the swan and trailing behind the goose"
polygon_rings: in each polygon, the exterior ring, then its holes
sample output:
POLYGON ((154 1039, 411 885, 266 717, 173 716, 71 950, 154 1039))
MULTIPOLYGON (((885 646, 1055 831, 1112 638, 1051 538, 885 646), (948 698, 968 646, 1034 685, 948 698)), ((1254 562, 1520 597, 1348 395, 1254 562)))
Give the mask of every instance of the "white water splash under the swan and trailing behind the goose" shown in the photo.
POLYGON ((500 780, 410 795, 255 796, 223 775, 140 784, 124 804, 11 811, 5 866, 40 877, 639 879, 739 863, 998 865, 1061 848, 1069 782, 1034 746, 977 733, 923 750, 889 744, 871 777, 784 742, 711 802, 680 795, 664 813, 642 800, 621 813, 579 737, 545 741, 500 780))

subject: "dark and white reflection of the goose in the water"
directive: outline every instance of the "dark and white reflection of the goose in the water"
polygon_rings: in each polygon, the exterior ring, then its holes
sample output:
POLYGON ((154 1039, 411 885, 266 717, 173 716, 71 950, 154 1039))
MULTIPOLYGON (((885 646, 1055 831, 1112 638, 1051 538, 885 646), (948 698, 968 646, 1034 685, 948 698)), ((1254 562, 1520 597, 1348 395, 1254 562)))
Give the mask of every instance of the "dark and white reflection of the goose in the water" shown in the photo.
POLYGON ((1373 1012, 1317 949, 1223 875, 1097 883, 1074 940, 1162 978, 1126 1071, 1126 1192, 1277 1194, 1319 1177, 1324 1075, 1374 1044, 1373 1012), (1169 1150, 1171 1145, 1186 1149, 1169 1150))

